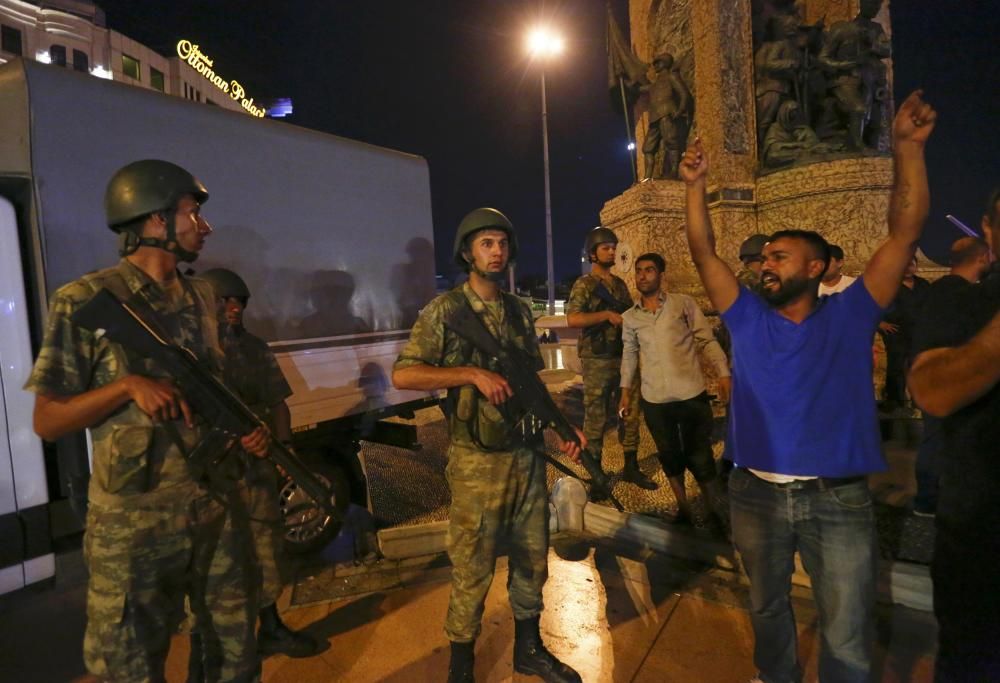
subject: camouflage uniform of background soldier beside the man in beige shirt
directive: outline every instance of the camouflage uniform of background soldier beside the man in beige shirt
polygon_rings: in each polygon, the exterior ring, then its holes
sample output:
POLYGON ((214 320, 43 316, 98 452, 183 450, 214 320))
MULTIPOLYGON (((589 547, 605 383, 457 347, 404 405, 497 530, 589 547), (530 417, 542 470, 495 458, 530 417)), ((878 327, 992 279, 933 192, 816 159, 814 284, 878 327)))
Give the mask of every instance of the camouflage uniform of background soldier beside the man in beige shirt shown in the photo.
MULTIPOLYGON (((573 283, 566 313, 594 313, 606 311, 608 304, 594 291, 601 280, 592 274, 584 275, 573 283)), ((608 287, 619 301, 632 300, 628 285, 614 275, 608 287)), ((621 384, 622 330, 621 327, 601 323, 584 330, 577 344, 577 355, 583 365, 583 435, 587 437, 587 450, 599 461, 604 449, 604 430, 608 414, 618 408, 618 388, 621 384)), ((618 438, 625 451, 639 448, 639 373, 630 392, 629 416, 619 423, 618 438)))

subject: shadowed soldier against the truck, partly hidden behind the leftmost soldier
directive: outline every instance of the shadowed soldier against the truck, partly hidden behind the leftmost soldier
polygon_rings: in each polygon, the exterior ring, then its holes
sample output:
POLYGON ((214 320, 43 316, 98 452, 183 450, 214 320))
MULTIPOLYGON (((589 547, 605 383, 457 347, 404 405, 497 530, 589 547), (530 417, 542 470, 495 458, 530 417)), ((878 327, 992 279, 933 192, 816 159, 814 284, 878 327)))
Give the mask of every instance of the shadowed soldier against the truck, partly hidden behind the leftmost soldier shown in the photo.
MULTIPOLYGON (((225 268, 206 270, 201 277, 212 285, 221 309, 219 344, 226 354, 226 385, 268 424, 278 441, 291 448, 292 417, 285 399, 292 395, 292 390, 267 342, 250 334, 243 326, 243 312, 250 299, 249 288, 243 278, 225 268)), ((276 603, 283 588, 279 567, 284 528, 274 465, 267 460, 251 463, 247 487, 250 526, 262 578, 257 651, 262 655, 311 657, 319 651, 319 644, 304 633, 289 629, 278 616, 276 603)), ((193 655, 195 634, 192 634, 191 649, 193 655)))

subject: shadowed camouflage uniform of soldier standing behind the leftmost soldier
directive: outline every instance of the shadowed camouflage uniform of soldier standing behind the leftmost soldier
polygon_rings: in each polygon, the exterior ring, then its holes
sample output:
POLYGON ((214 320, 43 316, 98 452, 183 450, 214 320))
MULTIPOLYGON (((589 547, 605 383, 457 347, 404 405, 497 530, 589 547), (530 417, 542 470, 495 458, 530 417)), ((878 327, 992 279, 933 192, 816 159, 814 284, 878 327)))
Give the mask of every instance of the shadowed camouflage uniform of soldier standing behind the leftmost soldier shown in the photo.
MULTIPOLYGON (((242 327, 230 326, 223 327, 219 341, 226 354, 226 385, 273 431, 271 408, 291 396, 292 389, 267 342, 242 327)), ((284 587, 280 571, 284 526, 278 506, 277 472, 271 461, 250 459, 247 487, 254 550, 262 575, 260 604, 273 605, 284 587)))

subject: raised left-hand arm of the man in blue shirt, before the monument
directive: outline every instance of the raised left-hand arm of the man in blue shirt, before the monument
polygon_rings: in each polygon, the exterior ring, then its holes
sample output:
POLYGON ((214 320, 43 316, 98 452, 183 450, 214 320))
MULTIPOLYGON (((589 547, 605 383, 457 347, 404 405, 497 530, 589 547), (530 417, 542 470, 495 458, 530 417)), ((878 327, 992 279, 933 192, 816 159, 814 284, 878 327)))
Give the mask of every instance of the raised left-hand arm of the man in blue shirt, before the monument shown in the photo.
POLYGON ((740 284, 732 269, 715 253, 715 235, 705 199, 708 154, 701 146, 701 138, 696 138, 694 144, 684 152, 679 172, 681 180, 687 186, 686 230, 691 258, 712 306, 723 313, 739 296, 740 284))

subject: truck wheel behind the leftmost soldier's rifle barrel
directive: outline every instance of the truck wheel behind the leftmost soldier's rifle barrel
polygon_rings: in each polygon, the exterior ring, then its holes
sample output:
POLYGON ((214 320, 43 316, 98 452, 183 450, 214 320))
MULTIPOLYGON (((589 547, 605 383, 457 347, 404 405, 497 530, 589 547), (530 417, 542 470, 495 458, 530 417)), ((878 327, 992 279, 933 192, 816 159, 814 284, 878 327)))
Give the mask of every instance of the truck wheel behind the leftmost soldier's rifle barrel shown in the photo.
MULTIPOLYGON (((351 487, 344 471, 320 457, 306 459, 316 478, 329 486, 341 519, 351 502, 351 487)), ((290 479, 283 479, 278 490, 278 506, 285 523, 285 550, 290 555, 304 555, 320 550, 340 533, 341 525, 312 502, 290 479)))

